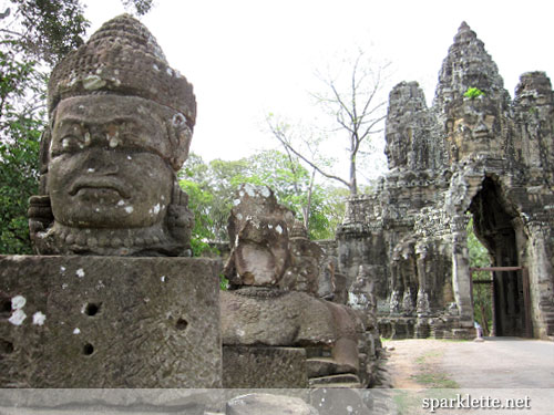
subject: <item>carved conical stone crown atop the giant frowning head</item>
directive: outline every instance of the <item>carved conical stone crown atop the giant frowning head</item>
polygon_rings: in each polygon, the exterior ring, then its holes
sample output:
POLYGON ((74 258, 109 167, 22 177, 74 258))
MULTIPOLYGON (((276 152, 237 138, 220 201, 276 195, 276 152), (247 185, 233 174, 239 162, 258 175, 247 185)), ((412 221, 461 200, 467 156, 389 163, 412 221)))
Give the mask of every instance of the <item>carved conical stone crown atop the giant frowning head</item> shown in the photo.
POLYGON ((196 120, 193 85, 168 66, 152 33, 130 14, 105 22, 53 70, 48 87, 51 114, 66 97, 95 93, 140 96, 196 120))

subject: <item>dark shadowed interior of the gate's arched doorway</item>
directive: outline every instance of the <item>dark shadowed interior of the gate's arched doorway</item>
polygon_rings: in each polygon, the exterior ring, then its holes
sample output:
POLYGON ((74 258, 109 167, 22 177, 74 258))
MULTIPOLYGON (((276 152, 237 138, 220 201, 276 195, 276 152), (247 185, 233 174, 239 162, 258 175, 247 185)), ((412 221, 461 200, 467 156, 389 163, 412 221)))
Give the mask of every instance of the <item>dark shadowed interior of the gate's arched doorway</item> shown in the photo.
MULTIPOLYGON (((500 186, 492 177, 483 180, 473 198, 475 236, 491 255, 493 267, 523 267, 517 247, 525 238, 514 229, 515 215, 509 211, 500 186)), ((527 336, 531 333, 529 279, 525 270, 494 271, 492 278, 493 331, 495 335, 527 336)))

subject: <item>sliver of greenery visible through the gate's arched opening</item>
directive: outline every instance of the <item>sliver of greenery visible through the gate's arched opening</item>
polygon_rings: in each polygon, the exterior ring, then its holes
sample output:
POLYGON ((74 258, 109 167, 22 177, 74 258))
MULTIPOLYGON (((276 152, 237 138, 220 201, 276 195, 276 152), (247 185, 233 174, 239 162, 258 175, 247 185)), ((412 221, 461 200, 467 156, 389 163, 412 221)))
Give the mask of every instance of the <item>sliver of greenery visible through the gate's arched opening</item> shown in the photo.
MULTIPOLYGON (((480 242, 473 231, 473 218, 468 224, 468 248, 470 251, 470 267, 490 267, 491 258, 486 248, 480 242)), ((489 271, 473 272, 473 281, 489 281, 489 271)), ((492 329, 492 295, 490 284, 473 284, 473 313, 475 321, 483 328, 483 334, 489 335, 492 329)))

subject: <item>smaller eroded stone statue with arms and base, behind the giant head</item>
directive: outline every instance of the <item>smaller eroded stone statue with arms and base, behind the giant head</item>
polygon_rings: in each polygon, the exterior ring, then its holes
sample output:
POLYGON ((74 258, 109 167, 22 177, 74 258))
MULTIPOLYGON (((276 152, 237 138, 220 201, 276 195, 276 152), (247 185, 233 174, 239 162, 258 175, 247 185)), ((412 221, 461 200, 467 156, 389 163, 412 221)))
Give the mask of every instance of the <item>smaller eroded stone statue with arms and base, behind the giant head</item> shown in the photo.
POLYGON ((375 312, 361 301, 368 287, 356 291, 356 310, 320 299, 324 251, 267 187, 240 187, 228 229, 224 386, 373 384, 380 343, 375 312))

